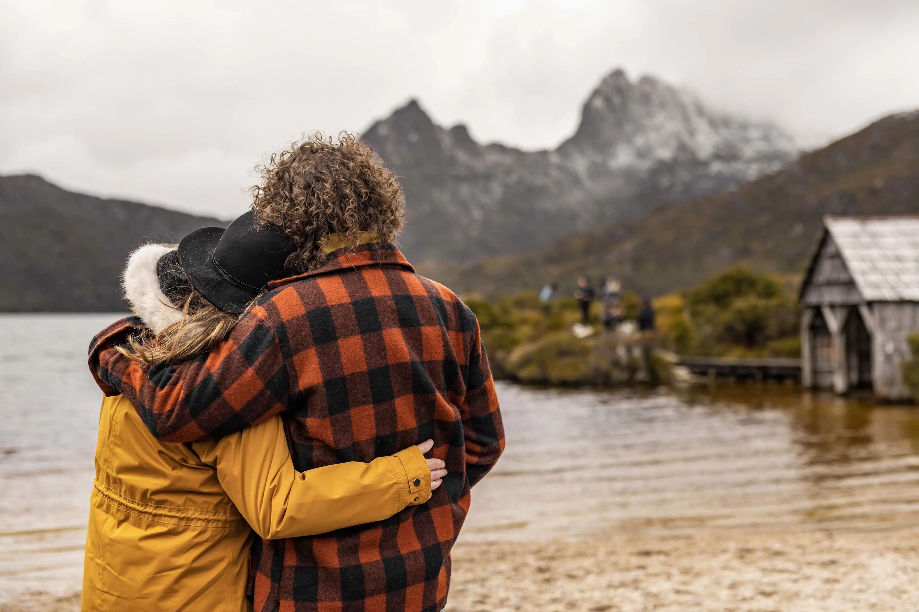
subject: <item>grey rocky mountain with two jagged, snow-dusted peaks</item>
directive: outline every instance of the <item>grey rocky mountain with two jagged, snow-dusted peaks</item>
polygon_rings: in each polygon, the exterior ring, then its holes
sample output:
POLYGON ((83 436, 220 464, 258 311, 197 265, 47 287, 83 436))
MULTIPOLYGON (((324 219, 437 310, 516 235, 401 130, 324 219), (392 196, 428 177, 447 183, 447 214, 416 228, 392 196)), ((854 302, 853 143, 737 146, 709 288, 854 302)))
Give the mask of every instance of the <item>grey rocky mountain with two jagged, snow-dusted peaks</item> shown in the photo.
POLYGON ((656 206, 711 195, 793 160, 793 139, 651 76, 612 72, 556 150, 482 145, 414 100, 364 134, 400 177, 414 261, 519 252, 656 206))

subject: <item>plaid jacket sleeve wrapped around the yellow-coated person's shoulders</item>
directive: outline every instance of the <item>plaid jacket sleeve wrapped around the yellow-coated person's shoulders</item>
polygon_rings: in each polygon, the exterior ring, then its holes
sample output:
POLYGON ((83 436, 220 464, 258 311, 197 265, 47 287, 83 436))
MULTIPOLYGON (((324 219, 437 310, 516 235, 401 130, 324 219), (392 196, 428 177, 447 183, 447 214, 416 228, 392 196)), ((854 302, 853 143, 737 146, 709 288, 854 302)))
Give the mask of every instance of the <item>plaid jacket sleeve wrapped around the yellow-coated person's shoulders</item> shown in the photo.
POLYGON ((124 395, 159 440, 189 442, 241 431, 287 407, 289 380, 278 336, 256 306, 210 351, 151 366, 117 347, 143 330, 128 317, 93 339, 89 369, 106 395, 124 395))

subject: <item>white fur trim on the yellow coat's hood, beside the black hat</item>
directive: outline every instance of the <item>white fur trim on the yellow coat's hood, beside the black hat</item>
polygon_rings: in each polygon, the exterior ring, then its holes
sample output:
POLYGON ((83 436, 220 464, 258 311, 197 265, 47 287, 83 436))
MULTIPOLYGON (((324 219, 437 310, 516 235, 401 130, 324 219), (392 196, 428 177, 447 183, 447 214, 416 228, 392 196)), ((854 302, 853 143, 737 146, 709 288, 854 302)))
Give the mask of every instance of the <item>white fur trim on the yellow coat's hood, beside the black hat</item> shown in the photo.
POLYGON ((175 249, 165 244, 145 244, 130 253, 121 273, 125 299, 130 302, 134 314, 156 335, 182 318, 182 311, 160 289, 160 277, 156 273, 156 262, 175 249))

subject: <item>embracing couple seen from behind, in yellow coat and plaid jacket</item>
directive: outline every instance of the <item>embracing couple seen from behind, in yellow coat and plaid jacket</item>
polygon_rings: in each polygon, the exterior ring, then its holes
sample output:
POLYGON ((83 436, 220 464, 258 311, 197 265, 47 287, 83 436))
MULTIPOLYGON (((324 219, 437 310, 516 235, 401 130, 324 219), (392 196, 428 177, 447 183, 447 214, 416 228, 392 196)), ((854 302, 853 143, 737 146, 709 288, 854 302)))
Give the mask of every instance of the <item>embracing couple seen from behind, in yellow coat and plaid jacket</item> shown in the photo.
POLYGON ((394 246, 360 139, 275 156, 227 228, 131 254, 83 609, 434 612, 504 428, 470 309, 394 246))

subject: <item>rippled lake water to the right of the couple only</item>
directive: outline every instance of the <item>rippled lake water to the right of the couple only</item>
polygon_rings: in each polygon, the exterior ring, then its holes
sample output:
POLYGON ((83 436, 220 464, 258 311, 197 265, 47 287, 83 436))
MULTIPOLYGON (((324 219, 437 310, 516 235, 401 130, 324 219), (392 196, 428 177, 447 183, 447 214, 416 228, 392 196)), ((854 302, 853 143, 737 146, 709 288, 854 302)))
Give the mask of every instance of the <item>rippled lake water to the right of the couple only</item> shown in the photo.
POLYGON ((919 525, 919 408, 788 386, 501 387, 507 451, 469 537, 919 525))

